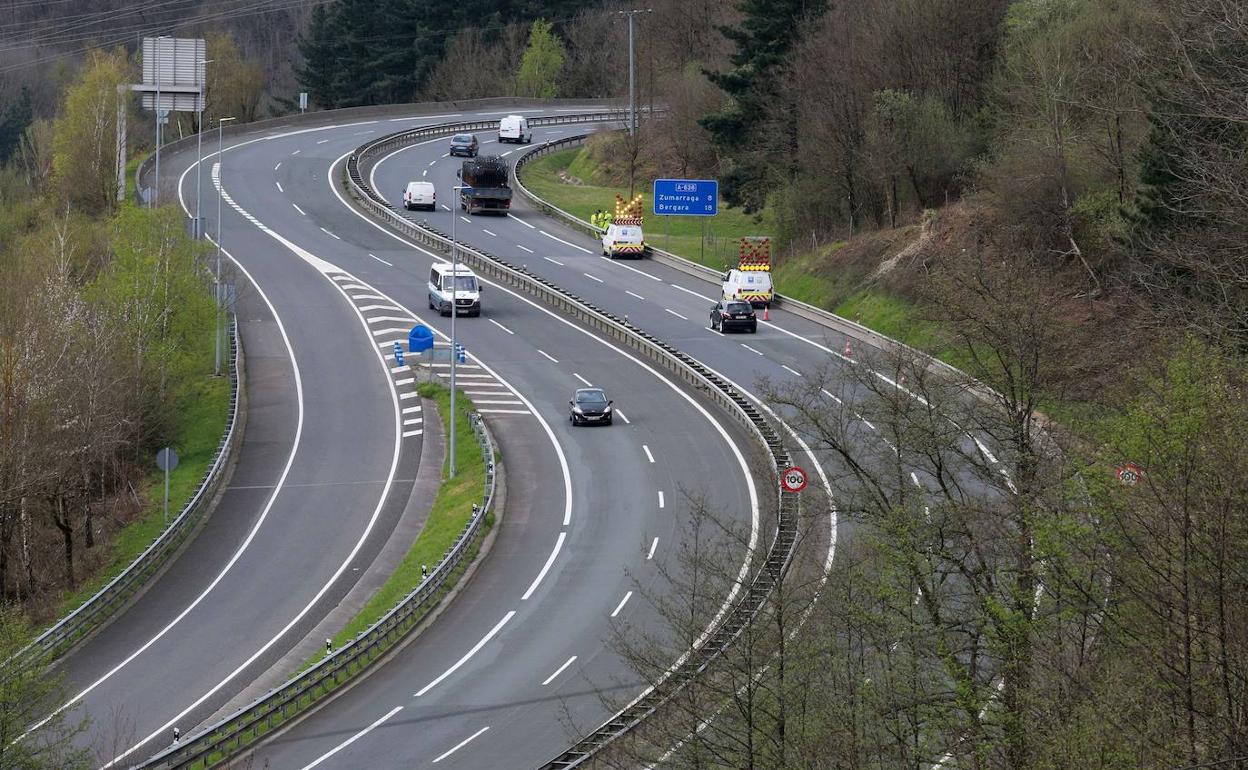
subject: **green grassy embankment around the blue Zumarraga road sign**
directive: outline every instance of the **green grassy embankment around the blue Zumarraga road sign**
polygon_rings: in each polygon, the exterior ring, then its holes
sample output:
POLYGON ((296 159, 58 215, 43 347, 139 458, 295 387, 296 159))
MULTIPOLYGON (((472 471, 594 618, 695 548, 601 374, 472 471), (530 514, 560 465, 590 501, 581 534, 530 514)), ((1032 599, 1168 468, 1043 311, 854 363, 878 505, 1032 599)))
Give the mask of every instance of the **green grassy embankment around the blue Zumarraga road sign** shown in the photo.
MULTIPOLYGON (((626 196, 624 187, 604 185, 570 185, 559 178, 560 171, 579 180, 602 178, 589 152, 583 149, 563 150, 538 158, 524 167, 524 185, 550 203, 583 220, 598 208, 610 211, 617 195, 626 196)), ((649 205, 649 183, 638 187, 649 205)), ((764 216, 763 220, 766 217, 764 216)), ((768 235, 759 218, 740 208, 720 206, 719 215, 708 217, 708 240, 701 241, 703 217, 646 217, 645 240, 664 251, 680 255, 713 267, 725 270, 736 263, 738 240, 741 236, 768 235), (655 222, 655 220, 660 220, 655 222)), ((821 253, 804 253, 785 260, 774 271, 776 290, 795 300, 831 309, 851 318, 881 334, 900 339, 920 349, 932 349, 936 341, 935 327, 920 317, 910 302, 872 288, 840 286, 815 268, 815 263, 830 252, 844 247, 832 243, 821 253)), ((943 356, 942 356, 943 357, 943 356)), ((957 364, 956 361, 950 363, 957 364)))

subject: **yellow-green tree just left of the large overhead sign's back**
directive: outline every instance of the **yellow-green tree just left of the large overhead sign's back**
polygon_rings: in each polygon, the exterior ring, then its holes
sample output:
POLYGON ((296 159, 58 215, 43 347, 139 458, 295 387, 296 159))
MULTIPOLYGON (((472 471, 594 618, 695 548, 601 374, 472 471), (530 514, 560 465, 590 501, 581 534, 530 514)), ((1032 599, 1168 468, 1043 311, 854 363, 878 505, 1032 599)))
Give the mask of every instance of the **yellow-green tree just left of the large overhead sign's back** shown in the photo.
POLYGON ((91 51, 54 122, 52 173, 61 200, 112 211, 117 198, 117 87, 131 76, 124 49, 91 51))

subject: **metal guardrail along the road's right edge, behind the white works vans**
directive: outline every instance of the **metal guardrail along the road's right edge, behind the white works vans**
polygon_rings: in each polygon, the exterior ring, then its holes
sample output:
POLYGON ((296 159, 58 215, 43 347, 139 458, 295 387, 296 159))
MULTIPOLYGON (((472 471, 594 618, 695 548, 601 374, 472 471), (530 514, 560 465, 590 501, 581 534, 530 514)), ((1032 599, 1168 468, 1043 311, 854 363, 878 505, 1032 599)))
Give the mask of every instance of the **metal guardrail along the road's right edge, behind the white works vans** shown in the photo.
MULTIPOLYGON (((582 220, 578 216, 569 213, 563 208, 559 208, 558 206, 538 197, 532 190, 524 186, 524 182, 520 181, 520 168, 524 167, 525 163, 532 162, 538 157, 542 157, 543 155, 548 155, 550 152, 557 152, 567 147, 574 147, 577 145, 580 145, 588 137, 589 137, 588 134, 580 134, 577 136, 564 136, 562 139, 543 142, 542 145, 522 154, 515 160, 515 191, 525 201, 528 201, 530 206, 545 213, 547 216, 558 220, 564 226, 572 227, 573 230, 579 230, 595 238, 600 238, 603 232, 605 232, 604 230, 602 230, 600 227, 594 227, 585 220, 582 220)), ((645 247, 645 255, 648 257, 651 257, 655 262, 660 262, 663 265, 666 265, 668 267, 679 270, 680 272, 688 276, 693 276, 695 278, 704 278, 714 283, 719 283, 723 275, 721 271, 706 267, 705 265, 699 265, 691 260, 686 260, 685 257, 674 255, 669 251, 663 251, 661 248, 655 248, 649 245, 645 247)), ((940 361, 938 358, 932 357, 929 353, 925 353, 917 348, 912 348, 899 339, 894 339, 892 337, 886 337, 885 334, 881 334, 880 332, 872 328, 862 326, 861 323, 855 323, 849 318, 842 318, 841 316, 830 313, 820 307, 815 307, 814 305, 802 302, 800 300, 794 300, 792 297, 786 297, 780 292, 775 293, 775 300, 773 302, 776 307, 784 308, 785 311, 795 316, 800 316, 806 321, 812 321, 820 326, 824 326, 846 337, 866 342, 881 351, 887 351, 894 354, 904 356, 911 361, 924 361, 926 362, 927 368, 932 369, 934 372, 941 372, 946 376, 956 376, 961 379, 967 378, 967 376, 963 372, 960 372, 957 368, 945 363, 943 361, 940 361)))

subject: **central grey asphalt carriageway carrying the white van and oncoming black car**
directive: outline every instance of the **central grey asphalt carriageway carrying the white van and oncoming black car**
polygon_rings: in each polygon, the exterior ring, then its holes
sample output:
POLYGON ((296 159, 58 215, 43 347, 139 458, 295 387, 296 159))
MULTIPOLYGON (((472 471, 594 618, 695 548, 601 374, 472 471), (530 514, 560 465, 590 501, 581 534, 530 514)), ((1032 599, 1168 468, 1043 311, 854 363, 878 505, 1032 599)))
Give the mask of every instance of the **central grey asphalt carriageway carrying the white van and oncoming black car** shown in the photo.
MULTIPOLYGON (((449 318, 427 309, 434 257, 373 227, 336 191, 344 154, 396 127, 357 122, 241 140, 227 149, 222 173, 223 242, 260 286, 313 272, 331 290, 349 287, 382 351, 406 338, 413 319, 449 333, 449 318)), ((193 176, 182 180, 183 198, 193 176)), ((205 188, 205 200, 215 195, 205 188)), ((595 690, 628 683, 604 641, 613 624, 653 625, 634 597, 673 564, 690 498, 746 530, 760 527, 766 490, 750 475, 759 454, 731 418, 502 287, 487 286, 483 301, 483 316, 459 318, 457 333, 470 358, 461 387, 499 438, 507 467, 494 550, 426 634, 262 746, 258 763, 409 766, 446 754, 439 765, 539 764, 577 731, 560 719, 565 708, 577 729, 595 726, 608 714, 595 690), (614 398, 614 426, 569 426, 568 398, 585 383, 614 398)), ((311 322, 298 303, 290 307, 288 323, 311 322)), ((331 366, 318 374, 356 372, 331 366)), ((633 681, 620 691, 639 689, 633 681)))

